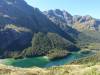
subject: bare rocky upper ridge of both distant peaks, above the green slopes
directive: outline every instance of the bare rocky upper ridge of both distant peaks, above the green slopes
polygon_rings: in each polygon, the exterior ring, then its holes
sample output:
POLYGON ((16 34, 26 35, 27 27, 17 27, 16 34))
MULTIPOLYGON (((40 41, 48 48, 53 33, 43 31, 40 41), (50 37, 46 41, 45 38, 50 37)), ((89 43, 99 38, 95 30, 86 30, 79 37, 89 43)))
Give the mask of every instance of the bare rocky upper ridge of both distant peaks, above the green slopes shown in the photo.
POLYGON ((65 28, 67 25, 75 28, 79 31, 93 30, 100 31, 100 20, 95 19, 89 15, 79 16, 71 15, 65 10, 48 10, 44 11, 44 14, 54 23, 60 24, 61 28, 65 28))

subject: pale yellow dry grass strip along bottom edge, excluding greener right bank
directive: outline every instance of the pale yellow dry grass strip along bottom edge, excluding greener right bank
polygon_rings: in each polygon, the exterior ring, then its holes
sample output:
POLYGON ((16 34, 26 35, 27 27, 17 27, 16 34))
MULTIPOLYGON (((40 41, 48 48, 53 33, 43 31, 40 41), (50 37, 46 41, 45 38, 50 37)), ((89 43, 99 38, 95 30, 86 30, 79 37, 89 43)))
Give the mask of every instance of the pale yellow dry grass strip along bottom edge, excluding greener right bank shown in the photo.
POLYGON ((100 65, 64 65, 49 69, 15 68, 0 65, 0 75, 100 75, 100 65))

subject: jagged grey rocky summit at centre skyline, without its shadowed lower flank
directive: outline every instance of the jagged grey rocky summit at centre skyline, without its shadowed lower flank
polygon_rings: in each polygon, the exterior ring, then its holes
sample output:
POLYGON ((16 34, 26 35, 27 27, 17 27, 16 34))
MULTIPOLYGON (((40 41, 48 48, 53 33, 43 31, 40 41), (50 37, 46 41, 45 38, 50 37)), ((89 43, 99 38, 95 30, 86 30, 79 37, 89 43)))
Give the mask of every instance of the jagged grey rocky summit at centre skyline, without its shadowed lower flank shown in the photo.
POLYGON ((48 10, 45 11, 44 14, 49 17, 51 20, 63 21, 66 24, 72 24, 72 15, 65 10, 55 9, 55 10, 48 10))

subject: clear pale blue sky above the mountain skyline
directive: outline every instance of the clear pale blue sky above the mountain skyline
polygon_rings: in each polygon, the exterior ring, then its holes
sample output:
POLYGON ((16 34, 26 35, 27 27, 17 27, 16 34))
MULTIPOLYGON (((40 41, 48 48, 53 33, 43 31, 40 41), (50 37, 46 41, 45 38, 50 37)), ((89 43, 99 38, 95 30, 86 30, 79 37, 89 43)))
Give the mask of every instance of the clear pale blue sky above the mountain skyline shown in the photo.
POLYGON ((72 15, 91 15, 100 19, 100 0, 25 0, 41 11, 50 9, 66 10, 72 15))

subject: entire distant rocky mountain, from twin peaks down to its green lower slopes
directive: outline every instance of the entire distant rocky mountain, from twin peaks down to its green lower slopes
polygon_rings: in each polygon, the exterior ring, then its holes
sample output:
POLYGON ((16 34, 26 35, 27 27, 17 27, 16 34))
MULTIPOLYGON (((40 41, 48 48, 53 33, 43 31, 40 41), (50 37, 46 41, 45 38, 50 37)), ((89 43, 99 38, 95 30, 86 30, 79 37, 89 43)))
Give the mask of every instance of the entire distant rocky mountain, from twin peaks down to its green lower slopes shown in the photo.
POLYGON ((100 20, 91 16, 72 16, 65 10, 55 9, 43 12, 47 18, 60 27, 65 33, 71 35, 79 47, 88 46, 89 43, 100 42, 100 20))

